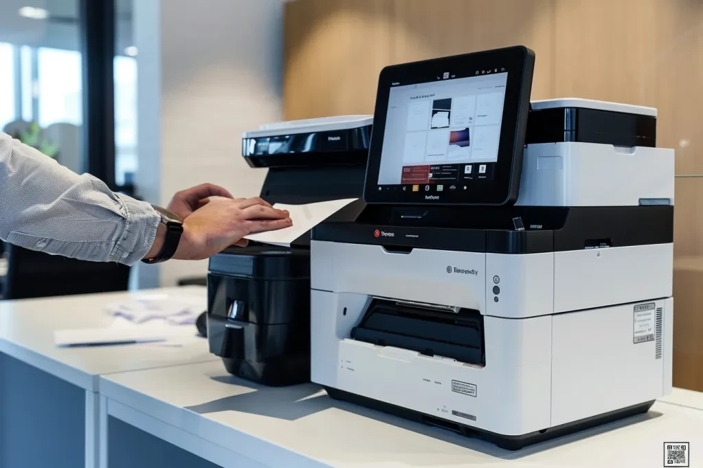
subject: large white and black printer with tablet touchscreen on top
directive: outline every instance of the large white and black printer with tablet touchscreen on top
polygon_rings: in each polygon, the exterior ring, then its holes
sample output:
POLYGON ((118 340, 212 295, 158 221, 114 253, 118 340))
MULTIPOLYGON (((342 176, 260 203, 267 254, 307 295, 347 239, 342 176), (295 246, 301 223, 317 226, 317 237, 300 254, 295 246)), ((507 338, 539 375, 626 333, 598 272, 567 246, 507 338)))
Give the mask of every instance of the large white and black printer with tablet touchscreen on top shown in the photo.
POLYGON ((528 119, 504 54, 382 73, 366 203, 313 230, 311 380, 517 450, 670 392, 674 155, 648 107, 528 119))

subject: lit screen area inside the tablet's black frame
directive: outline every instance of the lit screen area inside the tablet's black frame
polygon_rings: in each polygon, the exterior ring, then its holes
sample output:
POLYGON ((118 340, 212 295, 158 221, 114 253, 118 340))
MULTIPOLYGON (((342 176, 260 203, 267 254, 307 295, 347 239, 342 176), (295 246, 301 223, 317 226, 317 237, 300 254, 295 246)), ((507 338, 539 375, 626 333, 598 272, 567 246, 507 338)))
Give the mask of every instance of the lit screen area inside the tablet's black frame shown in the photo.
POLYGON ((507 81, 498 72, 390 88, 378 185, 437 194, 492 180, 507 81))

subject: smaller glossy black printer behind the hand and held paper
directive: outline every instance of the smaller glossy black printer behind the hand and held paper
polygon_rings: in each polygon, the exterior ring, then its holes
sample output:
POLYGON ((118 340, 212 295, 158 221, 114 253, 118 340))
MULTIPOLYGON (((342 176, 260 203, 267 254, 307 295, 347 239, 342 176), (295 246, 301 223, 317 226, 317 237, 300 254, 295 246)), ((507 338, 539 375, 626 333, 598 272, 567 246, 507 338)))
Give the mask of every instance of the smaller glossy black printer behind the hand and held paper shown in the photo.
MULTIPOLYGON (((299 204, 361 196, 372 121, 330 117, 245 133, 247 163, 269 169, 262 199, 299 204)), ((309 381, 309 237, 290 247, 251 241, 209 260, 209 350, 229 373, 264 385, 309 381)))

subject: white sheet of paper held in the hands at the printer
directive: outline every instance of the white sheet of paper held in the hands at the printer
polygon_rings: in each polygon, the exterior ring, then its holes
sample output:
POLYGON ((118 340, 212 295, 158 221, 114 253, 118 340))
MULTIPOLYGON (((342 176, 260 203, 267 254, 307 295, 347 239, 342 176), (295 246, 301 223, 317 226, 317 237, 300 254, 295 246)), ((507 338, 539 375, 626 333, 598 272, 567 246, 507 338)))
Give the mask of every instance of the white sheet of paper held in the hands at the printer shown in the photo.
POLYGON ((332 201, 321 201, 319 203, 307 203, 305 205, 286 205, 276 203, 273 208, 288 210, 290 219, 293 221, 291 227, 278 229, 278 231, 259 232, 245 236, 245 239, 262 243, 269 243, 274 246, 290 247, 290 243, 295 241, 310 229, 320 224, 337 211, 347 206, 357 199, 343 199, 332 201))

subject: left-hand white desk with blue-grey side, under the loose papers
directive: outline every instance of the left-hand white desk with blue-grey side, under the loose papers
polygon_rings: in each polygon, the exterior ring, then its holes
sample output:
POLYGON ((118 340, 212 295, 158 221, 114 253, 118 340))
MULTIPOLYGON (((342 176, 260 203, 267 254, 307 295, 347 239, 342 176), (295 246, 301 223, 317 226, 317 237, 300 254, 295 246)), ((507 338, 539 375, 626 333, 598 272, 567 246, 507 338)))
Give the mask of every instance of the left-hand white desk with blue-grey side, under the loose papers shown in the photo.
MULTIPOLYGON (((205 288, 188 291, 205 297, 205 288)), ((18 462, 95 467, 100 375, 216 359, 205 339, 177 348, 53 344, 54 330, 108 326, 112 318, 105 305, 127 297, 129 293, 111 293, 0 302, 0 468, 18 462)))

